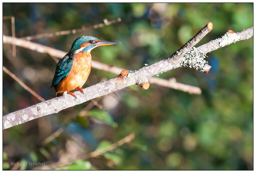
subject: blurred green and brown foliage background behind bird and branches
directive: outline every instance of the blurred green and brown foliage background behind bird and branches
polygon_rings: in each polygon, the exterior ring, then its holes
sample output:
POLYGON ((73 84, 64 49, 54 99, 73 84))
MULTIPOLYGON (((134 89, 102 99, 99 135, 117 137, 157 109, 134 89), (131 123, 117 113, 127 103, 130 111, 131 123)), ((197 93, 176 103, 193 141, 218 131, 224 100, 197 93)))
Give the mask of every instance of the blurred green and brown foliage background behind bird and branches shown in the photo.
MULTIPOLYGON (((67 52, 82 35, 122 42, 92 50, 92 59, 136 70, 170 56, 208 22, 214 29, 197 46, 229 29, 239 32, 252 27, 253 4, 3 3, 3 16, 15 17, 16 37, 121 18, 121 22, 102 28, 32 41, 67 52)), ((10 20, 3 20, 3 33, 11 36, 10 20)), ((50 86, 56 62, 48 54, 16 49, 17 56, 13 57, 12 45, 3 44, 3 65, 46 100, 55 97, 50 86)), ((212 66, 208 74, 181 67, 159 75, 198 86, 201 95, 154 84, 148 90, 134 85, 97 98, 98 106, 88 101, 3 130, 4 169, 35 169, 6 162, 54 165, 73 157, 74 162, 57 169, 252 170, 253 38, 207 55, 212 66), (84 108, 85 116, 80 116, 84 108), (130 143, 103 156, 76 159, 78 154, 92 152, 132 132, 135 139, 130 143), (42 143, 52 134, 56 136, 51 141, 42 143)), ((84 88, 115 76, 92 69, 84 88)), ((3 72, 3 115, 38 102, 3 72)))

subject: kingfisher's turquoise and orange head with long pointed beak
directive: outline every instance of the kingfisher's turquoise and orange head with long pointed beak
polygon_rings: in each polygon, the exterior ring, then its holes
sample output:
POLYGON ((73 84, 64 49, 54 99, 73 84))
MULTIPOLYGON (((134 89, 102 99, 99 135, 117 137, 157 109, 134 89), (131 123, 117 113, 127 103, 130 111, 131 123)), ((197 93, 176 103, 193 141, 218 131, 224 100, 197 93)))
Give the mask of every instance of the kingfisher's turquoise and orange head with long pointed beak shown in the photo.
POLYGON ((87 51, 91 51, 92 49, 98 46, 118 44, 118 43, 119 42, 102 41, 92 36, 81 36, 73 42, 70 52, 72 53, 87 52, 87 51))

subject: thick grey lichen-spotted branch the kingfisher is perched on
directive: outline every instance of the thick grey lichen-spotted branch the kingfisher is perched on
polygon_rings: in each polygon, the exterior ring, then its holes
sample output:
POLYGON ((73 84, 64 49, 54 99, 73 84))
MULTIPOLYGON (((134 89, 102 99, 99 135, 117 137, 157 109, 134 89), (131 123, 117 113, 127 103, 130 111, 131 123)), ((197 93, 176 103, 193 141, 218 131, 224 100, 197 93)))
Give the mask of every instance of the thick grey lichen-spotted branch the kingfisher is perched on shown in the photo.
MULTIPOLYGON (((209 24, 210 23, 208 23, 208 25, 209 24)), ((79 91, 76 91, 75 94, 77 96, 77 99, 75 99, 73 96, 65 92, 64 95, 61 97, 56 97, 29 106, 27 108, 6 114, 5 116, 3 116, 3 129, 7 129, 14 125, 21 124, 52 113, 58 113, 63 109, 81 104, 93 98, 97 98, 112 93, 113 91, 122 89, 130 85, 136 84, 142 86, 144 83, 148 82, 148 79, 150 77, 181 66, 196 67, 196 70, 198 71, 208 72, 211 66, 209 66, 208 62, 204 61, 203 59, 206 56, 206 52, 202 52, 201 49, 198 48, 193 48, 193 46, 197 44, 208 32, 210 32, 210 29, 212 28, 209 26, 207 27, 206 25, 196 34, 196 36, 190 39, 182 48, 180 48, 172 56, 164 60, 161 60, 149 66, 142 67, 136 71, 130 71, 127 75, 118 75, 117 77, 114 77, 112 79, 89 86, 83 89, 85 93, 84 95, 82 95, 79 91)), ((251 34, 252 31, 253 28, 249 28, 239 33, 235 33, 235 36, 236 38, 240 37, 241 40, 248 39, 250 36, 253 35, 251 34), (242 35, 245 32, 250 33, 250 35, 248 37, 242 37, 242 35)), ((226 37, 223 36, 222 38, 229 37, 233 38, 232 36, 230 36, 229 33, 227 34, 226 37)), ((235 40, 237 39, 233 39, 233 41, 235 40)))

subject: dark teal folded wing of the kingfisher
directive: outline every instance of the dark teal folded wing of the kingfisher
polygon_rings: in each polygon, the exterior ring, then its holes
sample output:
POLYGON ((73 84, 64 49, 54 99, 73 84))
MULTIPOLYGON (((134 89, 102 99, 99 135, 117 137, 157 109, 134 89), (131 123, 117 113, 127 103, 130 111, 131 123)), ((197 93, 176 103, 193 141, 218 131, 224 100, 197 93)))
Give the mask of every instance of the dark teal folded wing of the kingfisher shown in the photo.
POLYGON ((57 64, 55 75, 52 79, 51 87, 57 85, 58 82, 60 82, 61 79, 66 77, 70 70, 72 69, 74 64, 74 61, 72 58, 70 58, 70 55, 65 55, 57 64))

